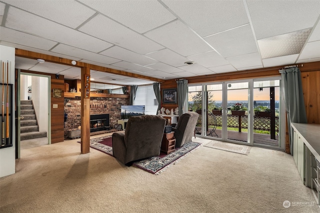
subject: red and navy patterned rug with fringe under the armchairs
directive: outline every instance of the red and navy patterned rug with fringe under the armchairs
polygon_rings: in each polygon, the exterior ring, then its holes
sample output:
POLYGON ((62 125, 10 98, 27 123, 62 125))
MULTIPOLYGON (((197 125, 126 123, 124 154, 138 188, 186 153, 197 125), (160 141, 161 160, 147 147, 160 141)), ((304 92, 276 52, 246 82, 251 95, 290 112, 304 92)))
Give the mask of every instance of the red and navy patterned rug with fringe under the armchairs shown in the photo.
MULTIPOLYGON (((90 147, 113 156, 111 136, 104 136, 90 139, 90 147)), ((158 175, 168 167, 176 164, 179 160, 187 156, 191 151, 198 148, 201 144, 189 142, 168 155, 160 153, 160 156, 150 157, 141 161, 134 162, 132 165, 145 170, 149 173, 158 175)))

